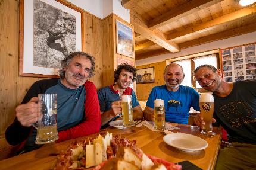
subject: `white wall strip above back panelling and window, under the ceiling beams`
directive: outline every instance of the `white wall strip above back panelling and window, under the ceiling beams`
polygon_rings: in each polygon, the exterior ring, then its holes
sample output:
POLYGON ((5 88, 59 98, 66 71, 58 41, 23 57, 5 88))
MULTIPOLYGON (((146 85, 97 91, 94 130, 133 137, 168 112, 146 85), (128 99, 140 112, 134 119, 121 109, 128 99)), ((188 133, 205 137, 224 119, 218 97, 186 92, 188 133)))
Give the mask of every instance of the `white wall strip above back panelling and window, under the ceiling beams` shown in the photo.
POLYGON ((231 37, 229 39, 218 40, 218 41, 202 44, 195 47, 189 47, 187 49, 180 50, 180 52, 178 53, 168 53, 168 54, 162 54, 159 56, 149 57, 142 60, 136 60, 136 66, 163 62, 166 59, 187 56, 189 54, 205 52, 208 50, 224 49, 228 47, 239 46, 242 44, 248 44, 248 43, 254 43, 254 42, 256 42, 256 32, 243 34, 241 36, 231 37))

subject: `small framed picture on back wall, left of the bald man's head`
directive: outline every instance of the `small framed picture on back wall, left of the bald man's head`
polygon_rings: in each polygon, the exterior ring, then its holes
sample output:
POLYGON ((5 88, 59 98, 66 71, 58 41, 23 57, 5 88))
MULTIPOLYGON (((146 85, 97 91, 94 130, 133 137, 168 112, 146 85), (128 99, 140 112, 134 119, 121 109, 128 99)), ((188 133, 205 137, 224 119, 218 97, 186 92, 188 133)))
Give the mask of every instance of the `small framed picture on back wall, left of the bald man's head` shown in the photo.
POLYGON ((155 82, 155 72, 154 67, 137 69, 136 76, 137 84, 146 84, 146 83, 154 83, 155 82))

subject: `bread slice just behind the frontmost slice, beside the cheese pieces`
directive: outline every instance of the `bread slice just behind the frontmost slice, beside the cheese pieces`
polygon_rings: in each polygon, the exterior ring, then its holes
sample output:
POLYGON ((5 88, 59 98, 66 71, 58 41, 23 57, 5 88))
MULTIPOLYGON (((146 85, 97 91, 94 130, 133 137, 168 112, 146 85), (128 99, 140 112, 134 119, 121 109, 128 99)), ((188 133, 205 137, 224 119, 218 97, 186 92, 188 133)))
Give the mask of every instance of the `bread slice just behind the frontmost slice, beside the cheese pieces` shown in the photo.
POLYGON ((141 158, 129 147, 118 147, 116 158, 124 159, 124 161, 132 163, 141 169, 141 158))

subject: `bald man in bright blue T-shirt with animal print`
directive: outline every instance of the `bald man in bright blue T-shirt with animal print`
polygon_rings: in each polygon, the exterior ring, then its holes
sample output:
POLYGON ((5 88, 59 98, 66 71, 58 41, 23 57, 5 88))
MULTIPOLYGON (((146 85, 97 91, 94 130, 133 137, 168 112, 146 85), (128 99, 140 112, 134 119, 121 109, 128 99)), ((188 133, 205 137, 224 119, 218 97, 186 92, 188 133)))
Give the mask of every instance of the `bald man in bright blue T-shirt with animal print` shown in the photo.
POLYGON ((154 118, 154 100, 164 100, 166 121, 188 124, 189 110, 193 107, 199 111, 199 94, 195 89, 180 85, 184 79, 183 68, 171 63, 164 70, 164 81, 166 85, 155 86, 149 94, 144 118, 154 118))

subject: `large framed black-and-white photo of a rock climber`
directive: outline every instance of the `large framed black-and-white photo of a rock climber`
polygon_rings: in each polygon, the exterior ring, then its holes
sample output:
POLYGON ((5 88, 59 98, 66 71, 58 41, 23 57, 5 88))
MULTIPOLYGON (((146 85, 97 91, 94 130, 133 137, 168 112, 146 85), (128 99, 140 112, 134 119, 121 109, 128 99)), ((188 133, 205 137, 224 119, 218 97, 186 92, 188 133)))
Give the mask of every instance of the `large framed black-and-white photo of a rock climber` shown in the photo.
POLYGON ((21 0, 19 76, 58 78, 61 60, 82 51, 82 9, 64 0, 21 0))

